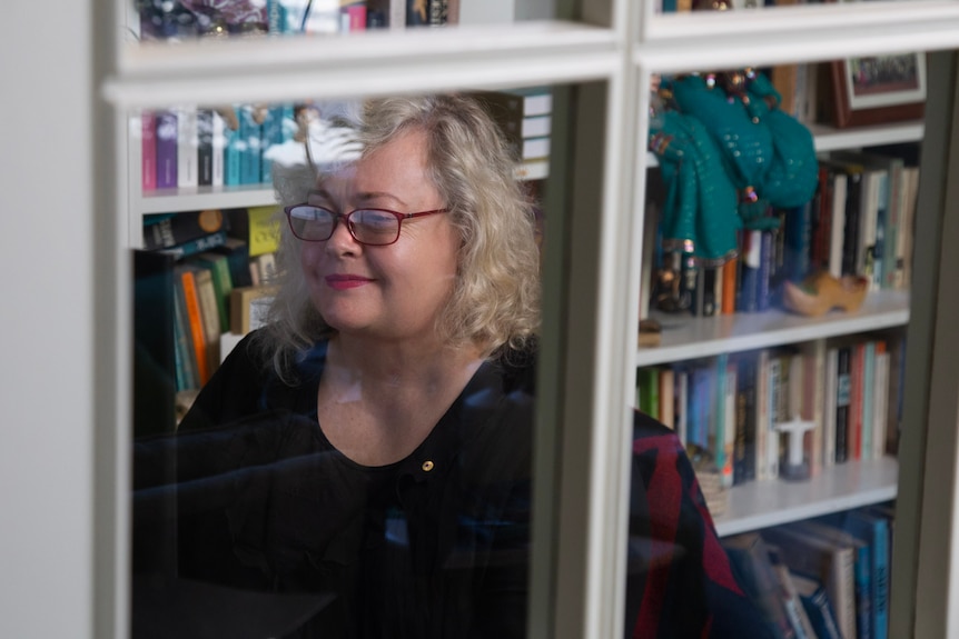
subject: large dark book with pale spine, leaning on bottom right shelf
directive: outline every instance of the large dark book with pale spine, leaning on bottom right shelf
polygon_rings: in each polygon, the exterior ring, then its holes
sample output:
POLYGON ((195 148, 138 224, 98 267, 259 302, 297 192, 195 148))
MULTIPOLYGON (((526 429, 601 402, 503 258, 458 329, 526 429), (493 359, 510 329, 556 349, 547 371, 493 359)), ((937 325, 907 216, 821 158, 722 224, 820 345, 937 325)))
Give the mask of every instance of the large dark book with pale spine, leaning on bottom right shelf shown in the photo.
POLYGON ((818 579, 825 586, 843 637, 856 633, 856 583, 852 548, 830 543, 797 530, 794 525, 777 526, 762 532, 769 543, 779 546, 792 572, 818 579))

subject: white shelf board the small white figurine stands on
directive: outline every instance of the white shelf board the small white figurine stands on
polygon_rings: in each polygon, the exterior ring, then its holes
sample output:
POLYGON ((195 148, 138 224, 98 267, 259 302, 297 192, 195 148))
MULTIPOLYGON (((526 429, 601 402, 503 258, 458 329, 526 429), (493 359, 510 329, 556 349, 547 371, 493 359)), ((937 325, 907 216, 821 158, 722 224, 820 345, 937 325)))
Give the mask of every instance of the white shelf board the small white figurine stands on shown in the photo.
POLYGON ((899 463, 892 457, 847 461, 808 481, 752 481, 730 489, 714 519, 720 537, 758 530, 896 498, 899 463))

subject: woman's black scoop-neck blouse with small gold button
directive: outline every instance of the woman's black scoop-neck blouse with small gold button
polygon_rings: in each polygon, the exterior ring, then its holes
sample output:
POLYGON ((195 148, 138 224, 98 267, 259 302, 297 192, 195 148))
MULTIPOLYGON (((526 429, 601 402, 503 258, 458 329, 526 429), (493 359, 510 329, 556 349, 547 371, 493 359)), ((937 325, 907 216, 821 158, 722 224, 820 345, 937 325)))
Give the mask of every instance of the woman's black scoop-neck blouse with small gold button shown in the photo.
MULTIPOLYGON (((330 595, 289 637, 524 636, 532 358, 484 362, 412 455, 373 468, 317 422, 327 342, 303 355, 296 387, 249 343, 164 445, 177 458, 177 577, 330 595)), ((139 446, 156 463, 157 441, 139 446)))

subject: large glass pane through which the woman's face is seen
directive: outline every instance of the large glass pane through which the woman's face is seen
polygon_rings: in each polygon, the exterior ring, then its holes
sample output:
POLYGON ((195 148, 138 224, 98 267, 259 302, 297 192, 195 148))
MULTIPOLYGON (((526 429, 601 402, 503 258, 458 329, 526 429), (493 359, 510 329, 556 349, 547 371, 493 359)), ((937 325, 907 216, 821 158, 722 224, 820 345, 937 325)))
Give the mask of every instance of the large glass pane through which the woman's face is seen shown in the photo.
POLYGON ((554 90, 131 118, 135 637, 525 636, 554 90))

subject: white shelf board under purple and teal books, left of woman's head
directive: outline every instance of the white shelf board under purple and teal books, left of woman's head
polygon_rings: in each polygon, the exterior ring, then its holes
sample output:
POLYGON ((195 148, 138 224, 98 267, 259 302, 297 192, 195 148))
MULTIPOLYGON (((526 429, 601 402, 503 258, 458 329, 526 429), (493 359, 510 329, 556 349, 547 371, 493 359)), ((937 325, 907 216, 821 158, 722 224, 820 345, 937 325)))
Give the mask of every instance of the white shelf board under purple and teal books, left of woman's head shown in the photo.
POLYGON ((157 189, 142 193, 134 209, 141 214, 239 209, 276 204, 276 192, 266 184, 157 189))

